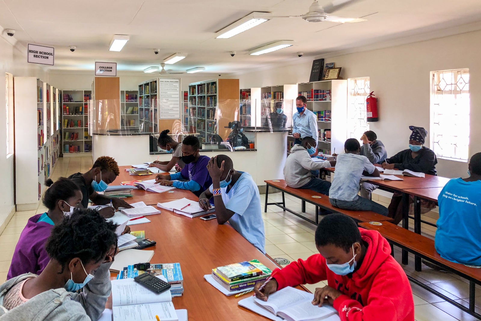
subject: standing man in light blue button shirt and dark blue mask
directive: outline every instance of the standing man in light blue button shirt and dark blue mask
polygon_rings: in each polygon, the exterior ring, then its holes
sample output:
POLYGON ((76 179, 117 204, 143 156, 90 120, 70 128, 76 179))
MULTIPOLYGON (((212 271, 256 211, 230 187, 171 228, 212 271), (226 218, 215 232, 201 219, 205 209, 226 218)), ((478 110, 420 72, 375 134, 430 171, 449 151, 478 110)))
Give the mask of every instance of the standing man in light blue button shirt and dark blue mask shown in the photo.
POLYGON ((294 144, 301 144, 304 137, 312 137, 319 140, 317 133, 317 117, 307 109, 307 99, 304 96, 296 98, 297 113, 292 115, 292 136, 294 144))

